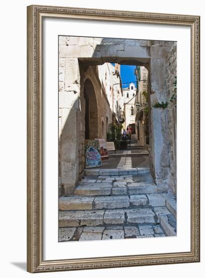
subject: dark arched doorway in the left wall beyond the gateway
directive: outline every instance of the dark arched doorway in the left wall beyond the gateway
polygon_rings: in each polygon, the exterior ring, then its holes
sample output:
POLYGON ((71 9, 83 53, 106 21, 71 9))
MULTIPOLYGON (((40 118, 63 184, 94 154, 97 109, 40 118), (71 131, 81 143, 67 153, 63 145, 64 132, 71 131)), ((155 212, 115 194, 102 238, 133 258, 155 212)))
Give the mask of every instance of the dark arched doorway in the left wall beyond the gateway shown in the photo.
POLYGON ((85 139, 98 137, 98 106, 93 84, 89 78, 84 83, 85 139))

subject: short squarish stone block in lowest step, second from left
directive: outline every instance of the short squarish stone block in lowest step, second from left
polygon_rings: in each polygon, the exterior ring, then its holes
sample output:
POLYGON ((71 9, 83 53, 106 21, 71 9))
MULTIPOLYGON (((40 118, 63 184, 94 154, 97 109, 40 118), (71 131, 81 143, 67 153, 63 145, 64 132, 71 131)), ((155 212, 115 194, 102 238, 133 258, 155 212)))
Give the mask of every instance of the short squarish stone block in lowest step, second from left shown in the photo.
POLYGON ((123 224, 125 222, 124 210, 106 210, 103 221, 105 224, 123 224))

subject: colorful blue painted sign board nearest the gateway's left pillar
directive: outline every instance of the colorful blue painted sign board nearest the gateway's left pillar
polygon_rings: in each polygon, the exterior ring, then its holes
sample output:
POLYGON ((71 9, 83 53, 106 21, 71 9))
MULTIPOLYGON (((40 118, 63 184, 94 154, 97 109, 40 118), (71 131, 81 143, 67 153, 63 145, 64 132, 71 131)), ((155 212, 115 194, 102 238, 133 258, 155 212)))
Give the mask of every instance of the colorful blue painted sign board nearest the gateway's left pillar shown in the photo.
POLYGON ((85 167, 102 166, 99 140, 85 140, 85 167))

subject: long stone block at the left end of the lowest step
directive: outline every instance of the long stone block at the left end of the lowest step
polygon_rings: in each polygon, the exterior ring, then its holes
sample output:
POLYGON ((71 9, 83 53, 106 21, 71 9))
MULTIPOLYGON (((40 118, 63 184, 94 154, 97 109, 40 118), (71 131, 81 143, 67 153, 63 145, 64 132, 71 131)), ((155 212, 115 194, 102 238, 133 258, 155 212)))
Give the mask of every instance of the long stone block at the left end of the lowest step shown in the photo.
POLYGON ((104 210, 60 211, 59 227, 102 225, 103 215, 104 215, 104 210))

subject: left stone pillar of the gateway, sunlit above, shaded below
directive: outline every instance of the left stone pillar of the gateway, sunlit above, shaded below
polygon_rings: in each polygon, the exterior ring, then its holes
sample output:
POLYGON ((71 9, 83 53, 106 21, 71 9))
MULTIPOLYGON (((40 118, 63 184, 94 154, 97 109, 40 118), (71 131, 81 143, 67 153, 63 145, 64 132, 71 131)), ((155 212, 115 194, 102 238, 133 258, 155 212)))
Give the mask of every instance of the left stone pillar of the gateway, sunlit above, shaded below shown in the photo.
MULTIPOLYGON (((62 55, 63 56, 63 55, 62 55)), ((77 58, 59 56, 59 186, 73 194, 79 176, 80 72, 77 58)))

